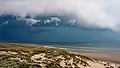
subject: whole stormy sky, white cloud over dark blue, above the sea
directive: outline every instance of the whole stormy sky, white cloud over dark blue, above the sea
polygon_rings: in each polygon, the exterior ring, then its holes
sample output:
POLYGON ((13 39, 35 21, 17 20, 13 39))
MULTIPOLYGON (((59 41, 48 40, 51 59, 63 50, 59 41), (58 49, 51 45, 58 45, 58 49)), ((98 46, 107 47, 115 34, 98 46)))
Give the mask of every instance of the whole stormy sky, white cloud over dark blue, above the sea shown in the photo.
MULTIPOLYGON (((120 42, 119 6, 120 0, 0 0, 0 24, 4 20, 4 16, 2 17, 4 14, 20 16, 21 19, 33 24, 42 22, 34 19, 35 16, 57 14, 64 20, 68 16, 73 18, 72 21, 77 18, 77 26, 84 26, 84 28, 40 26, 28 29, 23 25, 15 26, 18 21, 8 16, 2 25, 11 24, 0 28, 0 41, 120 42), (33 16, 33 19, 26 19, 27 15, 33 16)), ((23 24, 21 21, 20 23, 23 24)))

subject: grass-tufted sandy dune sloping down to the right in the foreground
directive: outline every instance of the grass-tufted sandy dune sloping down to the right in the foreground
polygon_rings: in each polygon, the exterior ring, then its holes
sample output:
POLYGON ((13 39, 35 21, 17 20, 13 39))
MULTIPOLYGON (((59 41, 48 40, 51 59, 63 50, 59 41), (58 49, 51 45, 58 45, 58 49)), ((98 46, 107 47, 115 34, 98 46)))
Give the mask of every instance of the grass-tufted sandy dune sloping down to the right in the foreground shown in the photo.
POLYGON ((97 60, 61 49, 0 43, 0 68, 86 68, 88 61, 97 60))

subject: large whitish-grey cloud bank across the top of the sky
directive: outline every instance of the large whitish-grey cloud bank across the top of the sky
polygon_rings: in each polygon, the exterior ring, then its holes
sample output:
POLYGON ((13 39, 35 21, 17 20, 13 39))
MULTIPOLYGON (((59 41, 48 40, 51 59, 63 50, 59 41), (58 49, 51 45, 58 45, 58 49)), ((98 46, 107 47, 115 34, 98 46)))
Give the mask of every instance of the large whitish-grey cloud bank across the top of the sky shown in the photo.
POLYGON ((119 0, 0 0, 0 12, 27 14, 75 14, 79 25, 120 30, 119 0))

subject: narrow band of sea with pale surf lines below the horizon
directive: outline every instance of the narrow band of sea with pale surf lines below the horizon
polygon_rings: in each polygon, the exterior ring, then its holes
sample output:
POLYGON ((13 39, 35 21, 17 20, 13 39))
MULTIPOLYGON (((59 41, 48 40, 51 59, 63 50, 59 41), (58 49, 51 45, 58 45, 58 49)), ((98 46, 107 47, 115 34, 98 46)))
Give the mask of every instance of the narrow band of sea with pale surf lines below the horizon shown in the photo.
MULTIPOLYGON (((10 42, 13 43, 13 42, 10 42)), ((17 42, 15 42, 17 43, 17 42)), ((22 42, 21 42, 22 43, 22 42)), ((41 42, 41 43, 22 43, 37 46, 50 46, 74 51, 117 51, 120 52, 119 43, 82 43, 82 42, 41 42)))

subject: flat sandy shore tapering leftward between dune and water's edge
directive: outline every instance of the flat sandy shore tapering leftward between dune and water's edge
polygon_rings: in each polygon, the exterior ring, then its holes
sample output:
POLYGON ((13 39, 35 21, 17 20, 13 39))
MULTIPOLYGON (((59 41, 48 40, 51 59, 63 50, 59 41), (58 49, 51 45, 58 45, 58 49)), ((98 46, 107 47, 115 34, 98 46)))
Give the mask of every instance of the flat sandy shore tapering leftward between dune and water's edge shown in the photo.
POLYGON ((118 63, 120 64, 120 52, 114 50, 75 50, 72 48, 61 48, 61 47, 52 47, 52 46, 44 46, 48 48, 58 48, 65 51, 68 51, 73 54, 80 54, 83 56, 91 57, 97 60, 118 63))

